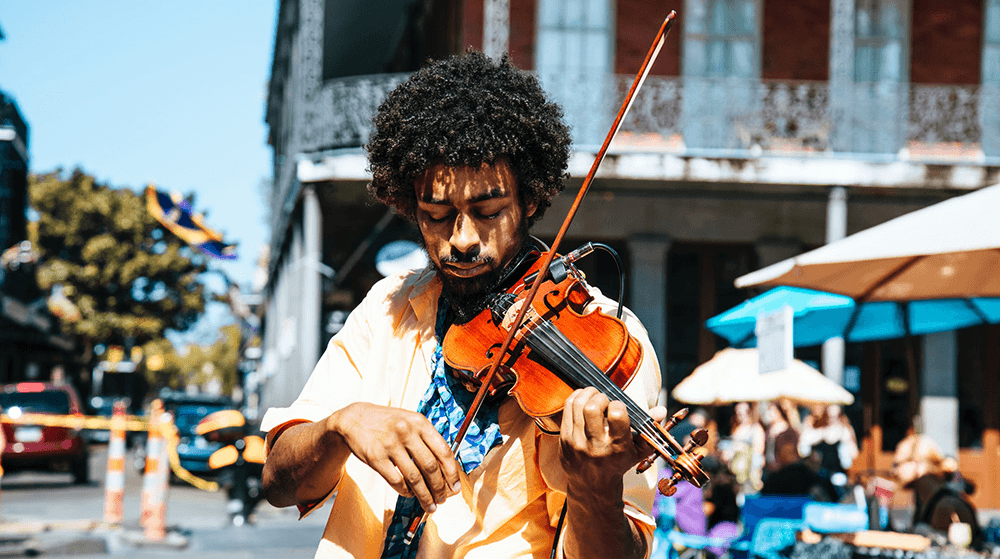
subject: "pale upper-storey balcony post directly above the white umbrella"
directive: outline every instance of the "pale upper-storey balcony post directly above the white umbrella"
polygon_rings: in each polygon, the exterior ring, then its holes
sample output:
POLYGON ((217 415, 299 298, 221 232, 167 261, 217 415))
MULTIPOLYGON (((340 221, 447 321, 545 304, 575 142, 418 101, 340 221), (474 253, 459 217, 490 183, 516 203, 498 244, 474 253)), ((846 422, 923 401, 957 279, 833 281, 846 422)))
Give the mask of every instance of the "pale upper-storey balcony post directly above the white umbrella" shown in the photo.
POLYGON ((830 146, 853 151, 854 0, 830 0, 830 146))

